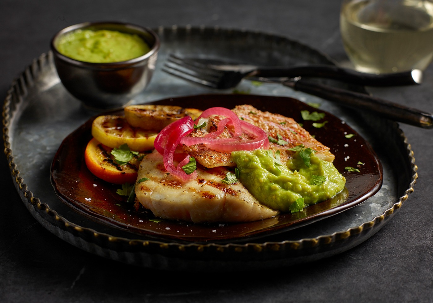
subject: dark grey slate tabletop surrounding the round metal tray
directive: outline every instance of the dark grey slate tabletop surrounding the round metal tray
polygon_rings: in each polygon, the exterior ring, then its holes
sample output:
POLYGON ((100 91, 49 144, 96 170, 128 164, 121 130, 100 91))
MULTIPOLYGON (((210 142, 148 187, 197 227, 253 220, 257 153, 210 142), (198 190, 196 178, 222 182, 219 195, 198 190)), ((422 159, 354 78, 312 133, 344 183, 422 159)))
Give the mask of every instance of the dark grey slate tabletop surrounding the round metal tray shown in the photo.
MULTIPOLYGON (((336 0, 12 1, 0 4, 0 91, 59 29, 89 20, 260 30, 346 61, 336 0)), ((432 65, 419 87, 370 89, 432 112, 432 65)), ((99 258, 47 232, 16 193, 1 161, 1 302, 432 302, 432 130, 401 125, 419 168, 415 191, 376 235, 332 258, 275 271, 190 274, 99 258), (9 214, 12 213, 13 216, 9 214)))

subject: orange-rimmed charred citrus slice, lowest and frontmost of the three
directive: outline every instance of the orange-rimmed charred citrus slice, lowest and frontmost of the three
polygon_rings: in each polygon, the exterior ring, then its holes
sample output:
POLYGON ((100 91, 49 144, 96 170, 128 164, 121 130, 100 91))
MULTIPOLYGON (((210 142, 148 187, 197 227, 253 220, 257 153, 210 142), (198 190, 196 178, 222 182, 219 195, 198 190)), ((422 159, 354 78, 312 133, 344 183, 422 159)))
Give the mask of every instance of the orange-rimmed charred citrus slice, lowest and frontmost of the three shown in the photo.
POLYGON ((96 177, 114 184, 134 184, 142 155, 136 155, 126 164, 117 164, 110 148, 95 138, 91 139, 84 152, 84 161, 96 177))

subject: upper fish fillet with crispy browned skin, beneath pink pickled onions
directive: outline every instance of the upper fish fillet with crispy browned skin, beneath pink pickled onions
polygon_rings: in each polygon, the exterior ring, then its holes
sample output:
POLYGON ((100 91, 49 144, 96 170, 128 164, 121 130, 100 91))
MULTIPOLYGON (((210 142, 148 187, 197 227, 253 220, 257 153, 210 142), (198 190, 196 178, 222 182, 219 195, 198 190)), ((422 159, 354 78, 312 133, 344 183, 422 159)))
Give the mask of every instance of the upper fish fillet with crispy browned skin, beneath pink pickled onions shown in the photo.
MULTIPOLYGON (((289 150, 297 145, 303 144, 305 148, 311 148, 316 151, 315 155, 324 161, 333 162, 335 156, 330 152, 330 148, 326 147, 319 141, 313 138, 309 132, 303 129, 294 119, 288 118, 279 114, 262 112, 251 105, 239 105, 233 109, 233 112, 243 119, 259 128, 263 129, 268 136, 278 139, 280 135, 287 144, 278 145, 270 142, 270 148, 276 152, 280 151, 281 161, 286 162, 292 158, 294 151, 289 150)), ((212 116, 208 121, 207 129, 195 129, 190 136, 204 136, 207 132, 216 130, 216 125, 223 119, 220 116, 212 116)), ((233 134, 230 128, 226 129, 221 138, 230 137, 233 134)), ((244 139, 250 139, 248 134, 244 134, 244 139)), ((183 151, 187 152, 196 161, 202 164, 205 168, 214 168, 219 166, 234 166, 230 161, 229 152, 218 152, 208 148, 204 144, 191 146, 183 146, 183 151)))

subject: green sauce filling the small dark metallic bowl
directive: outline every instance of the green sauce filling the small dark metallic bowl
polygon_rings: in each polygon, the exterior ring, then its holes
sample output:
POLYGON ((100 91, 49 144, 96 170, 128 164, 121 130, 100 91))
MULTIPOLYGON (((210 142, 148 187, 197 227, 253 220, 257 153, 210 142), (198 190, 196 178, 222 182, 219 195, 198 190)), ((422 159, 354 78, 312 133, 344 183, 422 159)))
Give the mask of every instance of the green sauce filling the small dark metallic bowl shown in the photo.
POLYGON ((126 61, 150 51, 139 35, 105 29, 70 32, 60 37, 56 48, 69 58, 92 63, 126 61))

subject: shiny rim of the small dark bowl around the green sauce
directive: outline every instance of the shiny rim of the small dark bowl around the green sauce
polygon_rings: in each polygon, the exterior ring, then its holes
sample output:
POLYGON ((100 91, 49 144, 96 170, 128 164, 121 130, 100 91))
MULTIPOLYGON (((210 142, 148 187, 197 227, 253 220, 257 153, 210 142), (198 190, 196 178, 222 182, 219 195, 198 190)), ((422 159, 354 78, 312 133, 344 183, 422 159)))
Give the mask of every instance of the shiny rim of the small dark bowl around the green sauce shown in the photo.
MULTIPOLYGON (((119 30, 121 32, 121 30, 119 30)), ((146 41, 148 43, 148 41, 146 41)), ((125 66, 131 66, 134 64, 137 64, 139 62, 142 62, 152 55, 154 55, 156 52, 158 52, 160 47, 160 40, 158 35, 156 33, 147 27, 138 26, 136 24, 132 23, 125 23, 125 22, 117 22, 117 21, 99 21, 99 22, 83 22, 74 24, 68 27, 65 27, 64 29, 61 29, 58 31, 53 38, 51 39, 51 50, 54 53, 55 56, 58 56, 58 58, 61 58, 64 61, 69 62, 70 64, 81 66, 81 67, 87 67, 87 68, 123 68, 125 66), (142 56, 132 58, 126 61, 116 61, 116 62, 107 62, 107 63, 95 63, 95 62, 86 62, 86 61, 80 61, 73 58, 70 58, 68 56, 62 55, 57 48, 55 47, 55 41, 62 35, 65 35, 68 32, 73 32, 77 29, 86 29, 86 28, 92 28, 92 27, 98 27, 100 29, 103 29, 104 27, 110 27, 110 26, 123 26, 127 29, 136 30, 138 32, 147 33, 152 36, 153 39, 155 39, 155 42, 151 46, 150 51, 145 53, 142 56)))

